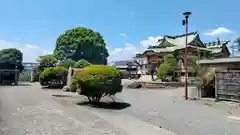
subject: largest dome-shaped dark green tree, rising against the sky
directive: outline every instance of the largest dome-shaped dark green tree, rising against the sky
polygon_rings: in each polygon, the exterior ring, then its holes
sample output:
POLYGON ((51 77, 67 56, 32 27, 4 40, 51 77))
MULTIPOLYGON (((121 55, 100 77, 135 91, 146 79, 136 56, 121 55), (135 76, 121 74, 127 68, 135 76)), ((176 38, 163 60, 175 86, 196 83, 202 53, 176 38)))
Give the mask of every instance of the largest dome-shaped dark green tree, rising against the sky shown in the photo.
POLYGON ((100 33, 77 27, 67 30, 57 38, 54 56, 59 60, 85 59, 93 64, 107 64, 109 54, 100 33))

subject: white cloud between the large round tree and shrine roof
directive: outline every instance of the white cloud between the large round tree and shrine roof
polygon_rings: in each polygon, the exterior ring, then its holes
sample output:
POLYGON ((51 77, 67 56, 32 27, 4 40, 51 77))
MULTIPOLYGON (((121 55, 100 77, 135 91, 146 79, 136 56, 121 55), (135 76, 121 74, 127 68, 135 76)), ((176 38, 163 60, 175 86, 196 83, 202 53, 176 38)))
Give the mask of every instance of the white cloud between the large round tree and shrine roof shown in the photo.
POLYGON ((139 45, 134 45, 126 42, 121 48, 109 48, 109 61, 129 60, 132 59, 136 53, 143 53, 149 45, 155 44, 161 36, 148 37, 146 40, 140 41, 139 45))

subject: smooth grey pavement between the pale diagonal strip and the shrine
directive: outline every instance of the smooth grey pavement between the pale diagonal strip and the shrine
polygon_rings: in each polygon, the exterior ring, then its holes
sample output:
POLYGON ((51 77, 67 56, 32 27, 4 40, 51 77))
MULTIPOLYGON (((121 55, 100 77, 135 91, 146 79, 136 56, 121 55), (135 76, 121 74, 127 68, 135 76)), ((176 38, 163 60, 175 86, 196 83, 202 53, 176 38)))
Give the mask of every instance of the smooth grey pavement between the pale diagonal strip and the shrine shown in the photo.
POLYGON ((122 111, 179 135, 239 135, 240 109, 226 104, 185 101, 183 90, 125 89, 119 98, 132 104, 122 111), (182 94, 182 95, 181 95, 182 94))

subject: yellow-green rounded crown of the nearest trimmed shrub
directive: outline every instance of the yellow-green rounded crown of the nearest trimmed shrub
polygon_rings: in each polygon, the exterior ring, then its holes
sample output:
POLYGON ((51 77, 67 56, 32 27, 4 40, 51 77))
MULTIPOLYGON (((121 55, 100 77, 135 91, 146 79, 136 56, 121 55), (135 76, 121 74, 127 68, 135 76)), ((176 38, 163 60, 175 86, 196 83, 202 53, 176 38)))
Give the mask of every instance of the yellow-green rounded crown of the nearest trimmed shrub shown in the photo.
POLYGON ((72 87, 81 88, 85 96, 114 95, 122 91, 119 71, 111 66, 91 65, 74 73, 72 87))

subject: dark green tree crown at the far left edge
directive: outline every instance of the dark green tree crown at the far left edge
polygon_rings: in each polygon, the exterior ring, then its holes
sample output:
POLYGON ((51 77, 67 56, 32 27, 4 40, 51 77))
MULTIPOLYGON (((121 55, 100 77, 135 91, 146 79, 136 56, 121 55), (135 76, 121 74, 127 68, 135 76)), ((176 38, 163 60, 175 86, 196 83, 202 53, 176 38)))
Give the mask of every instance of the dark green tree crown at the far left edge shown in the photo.
POLYGON ((23 70, 23 54, 16 48, 0 50, 0 68, 1 69, 19 69, 23 70))

